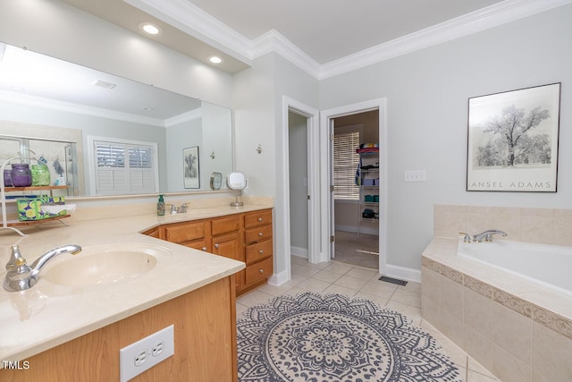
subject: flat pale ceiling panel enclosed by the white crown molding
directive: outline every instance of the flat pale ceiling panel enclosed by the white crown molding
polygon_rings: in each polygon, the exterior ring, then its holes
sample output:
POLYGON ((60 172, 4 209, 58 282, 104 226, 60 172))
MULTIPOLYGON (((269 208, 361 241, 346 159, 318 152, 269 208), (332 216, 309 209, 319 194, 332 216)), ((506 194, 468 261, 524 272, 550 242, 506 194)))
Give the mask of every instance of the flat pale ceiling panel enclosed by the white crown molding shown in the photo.
POLYGON ((276 30, 318 64, 500 0, 187 0, 251 40, 276 30))

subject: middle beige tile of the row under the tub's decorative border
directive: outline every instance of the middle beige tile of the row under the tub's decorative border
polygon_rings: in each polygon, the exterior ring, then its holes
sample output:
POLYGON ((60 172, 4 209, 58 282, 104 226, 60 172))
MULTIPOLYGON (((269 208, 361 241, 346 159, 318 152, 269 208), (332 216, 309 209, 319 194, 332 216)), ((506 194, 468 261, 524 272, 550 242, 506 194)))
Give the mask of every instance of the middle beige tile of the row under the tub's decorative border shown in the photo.
POLYGON ((463 308, 465 324, 492 340, 492 307, 494 302, 465 287, 463 308))

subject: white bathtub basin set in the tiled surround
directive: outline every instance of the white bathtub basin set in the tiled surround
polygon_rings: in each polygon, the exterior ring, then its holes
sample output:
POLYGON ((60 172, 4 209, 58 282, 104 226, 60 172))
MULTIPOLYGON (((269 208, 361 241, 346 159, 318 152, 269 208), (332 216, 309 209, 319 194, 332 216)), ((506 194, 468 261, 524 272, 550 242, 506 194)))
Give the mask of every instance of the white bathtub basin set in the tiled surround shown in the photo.
POLYGON ((572 247, 509 240, 467 243, 459 239, 457 255, 572 293, 572 247))

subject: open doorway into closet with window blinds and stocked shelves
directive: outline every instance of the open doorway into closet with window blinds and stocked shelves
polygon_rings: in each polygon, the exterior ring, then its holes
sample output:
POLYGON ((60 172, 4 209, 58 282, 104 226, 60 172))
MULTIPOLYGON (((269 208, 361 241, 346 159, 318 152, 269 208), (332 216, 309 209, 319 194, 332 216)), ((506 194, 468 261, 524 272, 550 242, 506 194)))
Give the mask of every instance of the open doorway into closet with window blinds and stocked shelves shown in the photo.
POLYGON ((377 269, 379 109, 335 117, 332 122, 335 230, 332 258, 377 269))

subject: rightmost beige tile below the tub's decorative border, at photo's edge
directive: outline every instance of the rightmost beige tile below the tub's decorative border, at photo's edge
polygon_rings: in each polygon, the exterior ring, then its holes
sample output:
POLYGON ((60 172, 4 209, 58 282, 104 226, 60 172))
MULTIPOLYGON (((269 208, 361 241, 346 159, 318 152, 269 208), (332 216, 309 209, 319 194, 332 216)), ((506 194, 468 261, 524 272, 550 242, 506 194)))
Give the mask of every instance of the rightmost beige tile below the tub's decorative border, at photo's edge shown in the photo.
POLYGON ((572 339, 534 322, 533 369, 550 381, 572 379, 572 339))

